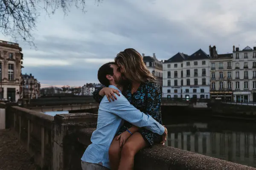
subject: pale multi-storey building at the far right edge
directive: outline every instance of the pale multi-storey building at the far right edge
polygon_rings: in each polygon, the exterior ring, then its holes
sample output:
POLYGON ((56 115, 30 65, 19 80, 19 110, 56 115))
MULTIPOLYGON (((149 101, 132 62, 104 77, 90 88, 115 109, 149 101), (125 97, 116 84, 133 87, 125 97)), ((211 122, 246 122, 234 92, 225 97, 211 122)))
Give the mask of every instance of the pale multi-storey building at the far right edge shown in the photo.
POLYGON ((256 46, 233 46, 232 89, 234 102, 256 102, 256 46))

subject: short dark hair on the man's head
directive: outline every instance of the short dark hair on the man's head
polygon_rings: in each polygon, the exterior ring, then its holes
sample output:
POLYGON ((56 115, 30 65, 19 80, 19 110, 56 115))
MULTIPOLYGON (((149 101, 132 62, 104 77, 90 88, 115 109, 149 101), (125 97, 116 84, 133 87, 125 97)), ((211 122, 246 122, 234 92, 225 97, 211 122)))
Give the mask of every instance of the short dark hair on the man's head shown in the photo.
POLYGON ((111 64, 115 64, 115 62, 108 62, 102 65, 98 70, 98 80, 102 85, 108 87, 110 85, 109 79, 107 79, 107 75, 113 75, 113 68, 110 67, 111 64))

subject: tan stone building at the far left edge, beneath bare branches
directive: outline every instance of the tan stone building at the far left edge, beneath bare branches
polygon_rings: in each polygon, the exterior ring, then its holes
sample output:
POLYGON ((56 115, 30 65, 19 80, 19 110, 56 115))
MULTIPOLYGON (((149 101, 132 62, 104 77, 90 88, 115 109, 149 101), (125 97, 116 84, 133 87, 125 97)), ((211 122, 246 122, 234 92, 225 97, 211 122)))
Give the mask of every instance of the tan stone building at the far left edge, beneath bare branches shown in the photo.
POLYGON ((23 54, 19 44, 0 40, 0 99, 17 102, 23 54))

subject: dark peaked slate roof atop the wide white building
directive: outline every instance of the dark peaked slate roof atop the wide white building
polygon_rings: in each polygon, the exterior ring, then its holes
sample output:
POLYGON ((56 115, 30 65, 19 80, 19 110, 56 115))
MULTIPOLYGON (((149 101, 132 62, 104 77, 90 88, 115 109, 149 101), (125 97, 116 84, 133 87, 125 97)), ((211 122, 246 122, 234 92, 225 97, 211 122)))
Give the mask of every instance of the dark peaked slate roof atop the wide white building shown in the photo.
POLYGON ((182 62, 183 60, 198 60, 198 59, 209 59, 209 55, 206 54, 201 48, 193 53, 192 55, 187 55, 183 53, 177 53, 173 57, 164 62, 182 62))

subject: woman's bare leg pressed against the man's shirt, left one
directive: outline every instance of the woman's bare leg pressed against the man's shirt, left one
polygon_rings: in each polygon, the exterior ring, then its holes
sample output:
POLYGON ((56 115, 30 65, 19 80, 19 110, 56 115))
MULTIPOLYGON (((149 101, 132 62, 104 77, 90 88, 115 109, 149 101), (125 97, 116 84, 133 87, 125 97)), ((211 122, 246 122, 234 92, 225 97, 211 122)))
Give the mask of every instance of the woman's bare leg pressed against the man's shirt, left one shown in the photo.
POLYGON ((109 156, 109 162, 111 170, 117 170, 119 166, 119 161, 121 157, 121 149, 120 148, 120 139, 116 140, 116 137, 114 137, 108 151, 109 156))

